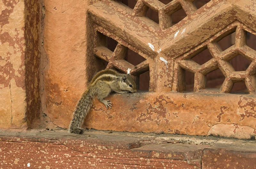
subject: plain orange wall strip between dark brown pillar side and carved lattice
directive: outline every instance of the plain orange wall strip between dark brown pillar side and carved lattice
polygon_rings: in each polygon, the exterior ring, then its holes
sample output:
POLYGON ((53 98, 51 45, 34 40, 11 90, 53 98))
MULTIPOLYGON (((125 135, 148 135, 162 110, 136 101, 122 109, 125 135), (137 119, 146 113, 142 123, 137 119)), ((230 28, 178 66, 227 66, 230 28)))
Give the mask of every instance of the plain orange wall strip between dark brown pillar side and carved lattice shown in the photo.
POLYGON ((87 3, 44 1, 42 113, 60 127, 85 89, 87 3))

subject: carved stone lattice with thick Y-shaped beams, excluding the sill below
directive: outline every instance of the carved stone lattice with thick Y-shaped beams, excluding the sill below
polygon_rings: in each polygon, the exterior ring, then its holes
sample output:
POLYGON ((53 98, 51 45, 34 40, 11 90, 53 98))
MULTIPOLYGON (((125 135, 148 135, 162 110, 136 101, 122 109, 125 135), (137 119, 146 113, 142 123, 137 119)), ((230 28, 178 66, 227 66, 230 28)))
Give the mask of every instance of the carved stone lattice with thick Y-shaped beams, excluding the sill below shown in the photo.
POLYGON ((89 13, 94 22, 93 36, 101 32, 118 42, 114 52, 94 43, 94 53, 108 62, 107 68, 130 72, 137 83, 139 75, 149 70, 149 91, 184 92, 187 70, 195 74, 194 92, 230 93, 234 83, 244 82, 249 93, 255 93, 256 52, 246 46, 246 32, 255 33, 248 24, 237 21, 231 4, 212 0, 199 10, 193 1, 185 0, 173 0, 168 4, 138 0, 133 10, 118 1, 92 4, 89 13), (149 8, 158 12, 159 25, 145 17, 149 8), (187 17, 173 25, 172 14, 180 9, 187 17), (236 32, 235 44, 222 51, 218 42, 233 32, 236 32), (124 60, 128 48, 146 60, 133 66, 124 60), (192 60, 205 49, 209 50, 212 59, 202 65, 192 60), (247 70, 235 71, 230 64, 229 61, 239 54, 251 61, 247 70), (216 91, 207 88, 206 75, 217 69, 224 74, 225 80, 216 91))

